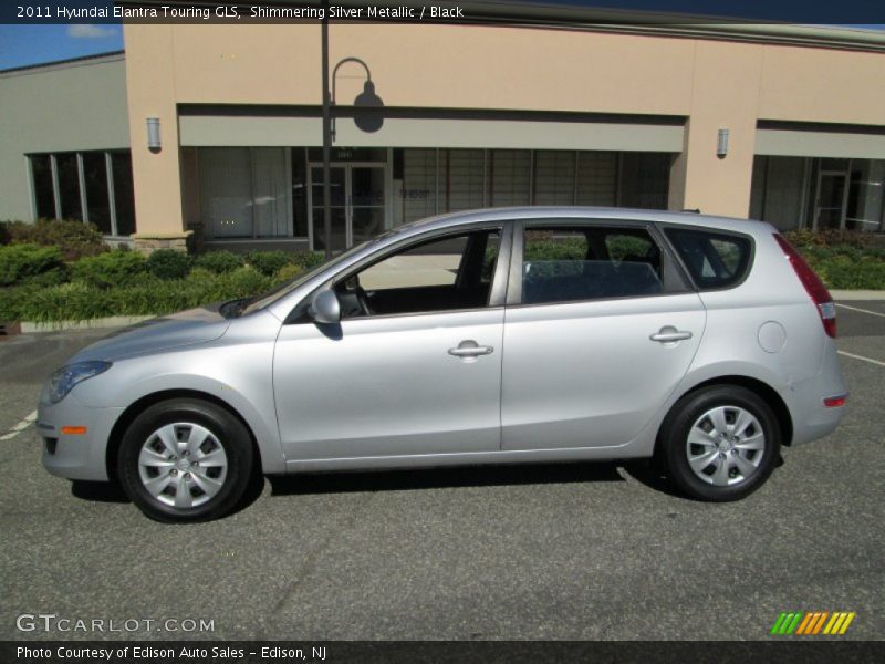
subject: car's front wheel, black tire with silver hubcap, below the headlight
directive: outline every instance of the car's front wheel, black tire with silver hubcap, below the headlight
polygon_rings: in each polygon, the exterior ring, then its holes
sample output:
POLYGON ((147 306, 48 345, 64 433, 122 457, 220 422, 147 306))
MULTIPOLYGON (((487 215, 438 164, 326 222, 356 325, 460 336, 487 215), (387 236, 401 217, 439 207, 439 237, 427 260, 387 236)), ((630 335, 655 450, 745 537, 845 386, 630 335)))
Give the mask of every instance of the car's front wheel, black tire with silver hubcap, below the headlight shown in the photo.
MULTIPOLYGON (((167 428, 166 432, 169 429, 167 428)), ((184 442, 179 445, 186 446, 184 442)), ((227 515, 242 499, 251 479, 253 456, 249 430, 231 413, 197 398, 176 398, 154 404, 129 425, 121 442, 117 473, 123 490, 138 509, 152 519, 166 523, 208 521, 227 515), (167 449, 156 433, 169 425, 176 425, 171 428, 176 440, 189 437, 189 433, 195 426, 208 430, 209 435, 204 438, 204 444, 195 450, 194 455, 183 450, 180 457, 175 457, 175 460, 171 455, 168 455, 169 463, 167 464, 162 458, 162 454, 166 454, 167 449), (153 450, 157 455, 156 458, 159 459, 155 463, 167 464, 170 466, 169 468, 159 469, 139 464, 143 448, 147 447, 152 440, 148 454, 153 450), (223 455, 219 453, 218 448, 223 455), (158 450, 164 452, 160 454, 158 450), (198 468, 199 461, 192 464, 191 467, 190 465, 184 466, 185 461, 180 460, 185 456, 208 459, 207 453, 212 454, 215 459, 223 459, 223 470, 220 465, 216 468, 207 468, 206 466, 210 466, 211 461, 205 461, 204 467, 198 468), (150 475, 154 473, 156 475, 150 475), (173 478, 175 486, 167 486, 159 496, 155 497, 146 488, 146 481, 156 479, 159 484, 163 479, 160 476, 166 473, 175 475, 173 478), (200 474, 198 475, 198 473, 200 474), (210 495, 201 487, 210 487, 210 491, 217 492, 210 495), (181 501, 186 502, 189 497, 191 506, 177 507, 175 504, 169 504, 169 501, 175 502, 179 490, 181 490, 181 501)), ((191 463, 190 458, 187 464, 191 463)))

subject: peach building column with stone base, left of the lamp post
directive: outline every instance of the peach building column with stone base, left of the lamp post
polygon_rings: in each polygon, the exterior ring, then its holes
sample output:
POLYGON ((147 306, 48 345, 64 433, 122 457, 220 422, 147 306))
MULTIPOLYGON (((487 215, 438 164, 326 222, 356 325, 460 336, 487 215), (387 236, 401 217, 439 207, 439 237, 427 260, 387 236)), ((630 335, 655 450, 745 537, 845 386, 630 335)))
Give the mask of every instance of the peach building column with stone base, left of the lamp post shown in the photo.
POLYGON ((173 25, 124 24, 129 141, 135 184, 135 248, 184 250, 173 25), (159 120, 162 146, 148 148, 147 118, 159 120))

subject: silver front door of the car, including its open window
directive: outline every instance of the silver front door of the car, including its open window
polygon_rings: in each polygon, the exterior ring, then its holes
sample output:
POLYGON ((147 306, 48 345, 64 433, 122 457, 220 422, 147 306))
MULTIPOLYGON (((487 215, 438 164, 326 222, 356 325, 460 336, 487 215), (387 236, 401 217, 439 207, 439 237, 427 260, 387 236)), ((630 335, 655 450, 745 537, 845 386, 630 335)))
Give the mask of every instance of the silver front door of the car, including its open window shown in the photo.
POLYGON ((404 248, 342 274, 340 325, 283 325, 273 392, 290 464, 499 449, 499 237, 404 248))

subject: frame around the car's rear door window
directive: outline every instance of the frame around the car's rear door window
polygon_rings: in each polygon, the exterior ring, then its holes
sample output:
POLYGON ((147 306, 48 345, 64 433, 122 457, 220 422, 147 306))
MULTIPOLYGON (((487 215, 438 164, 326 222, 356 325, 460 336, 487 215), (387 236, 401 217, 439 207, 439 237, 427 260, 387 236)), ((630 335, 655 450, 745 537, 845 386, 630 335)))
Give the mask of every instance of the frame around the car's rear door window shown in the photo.
POLYGON ((610 219, 593 217, 566 217, 566 218, 541 218, 541 219, 519 219, 513 225, 513 240, 510 258, 510 273, 507 284, 507 307, 562 307, 570 304, 586 304, 592 302, 610 302, 617 300, 636 300, 646 298, 662 298, 694 292, 696 289, 693 282, 685 274, 681 263, 677 262, 673 256, 673 248, 665 241, 663 234, 657 225, 650 220, 639 219, 610 219), (639 295, 614 295, 611 298, 587 298, 581 300, 562 300, 556 302, 522 302, 522 266, 523 251, 525 247, 527 228, 538 227, 577 228, 596 227, 624 230, 644 230, 648 234, 660 251, 662 284, 664 289, 659 293, 648 293, 639 295))

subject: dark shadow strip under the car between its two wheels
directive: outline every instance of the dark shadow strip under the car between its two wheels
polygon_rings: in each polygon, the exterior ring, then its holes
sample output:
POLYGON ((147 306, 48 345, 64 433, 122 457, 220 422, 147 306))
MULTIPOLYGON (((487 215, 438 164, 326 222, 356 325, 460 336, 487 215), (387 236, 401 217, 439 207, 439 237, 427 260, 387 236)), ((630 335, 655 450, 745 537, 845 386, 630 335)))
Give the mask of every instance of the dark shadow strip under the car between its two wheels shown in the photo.
POLYGON ((314 473, 270 477, 272 496, 410 491, 451 487, 624 481, 611 463, 525 464, 460 468, 408 468, 360 473, 314 473))

